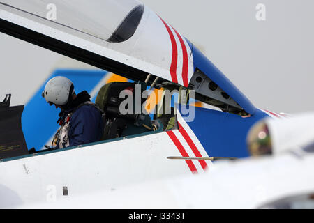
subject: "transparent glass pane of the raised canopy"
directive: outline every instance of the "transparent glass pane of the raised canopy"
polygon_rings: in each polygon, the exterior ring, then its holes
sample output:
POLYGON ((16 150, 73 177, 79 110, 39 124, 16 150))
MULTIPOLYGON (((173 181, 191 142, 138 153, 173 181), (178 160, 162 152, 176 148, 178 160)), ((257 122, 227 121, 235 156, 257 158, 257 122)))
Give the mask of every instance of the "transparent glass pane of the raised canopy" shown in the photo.
POLYGON ((126 17, 142 6, 136 0, 88 1, 88 3, 85 0, 2 0, 1 2, 102 40, 110 40, 126 17))

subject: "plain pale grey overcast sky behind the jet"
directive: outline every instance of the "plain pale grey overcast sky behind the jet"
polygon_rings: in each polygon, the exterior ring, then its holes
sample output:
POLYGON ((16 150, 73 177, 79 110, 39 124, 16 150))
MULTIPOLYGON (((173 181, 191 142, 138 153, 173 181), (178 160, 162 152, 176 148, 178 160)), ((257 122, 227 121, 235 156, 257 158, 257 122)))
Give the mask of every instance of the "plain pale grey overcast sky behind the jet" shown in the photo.
MULTIPOLYGON (((256 107, 314 111, 313 0, 142 2, 200 47, 256 107), (266 7, 264 21, 255 17, 258 3, 266 7)), ((61 55, 0 38, 0 100, 14 93, 13 104, 26 102, 61 55)))

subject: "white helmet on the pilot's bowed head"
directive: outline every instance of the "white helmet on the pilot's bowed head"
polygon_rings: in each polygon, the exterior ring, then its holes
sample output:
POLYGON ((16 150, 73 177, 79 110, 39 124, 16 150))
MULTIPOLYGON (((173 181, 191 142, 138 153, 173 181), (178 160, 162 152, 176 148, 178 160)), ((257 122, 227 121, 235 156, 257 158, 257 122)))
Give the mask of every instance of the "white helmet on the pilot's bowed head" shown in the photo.
POLYGON ((50 105, 66 105, 73 93, 74 86, 70 79, 57 76, 47 82, 42 96, 50 105))

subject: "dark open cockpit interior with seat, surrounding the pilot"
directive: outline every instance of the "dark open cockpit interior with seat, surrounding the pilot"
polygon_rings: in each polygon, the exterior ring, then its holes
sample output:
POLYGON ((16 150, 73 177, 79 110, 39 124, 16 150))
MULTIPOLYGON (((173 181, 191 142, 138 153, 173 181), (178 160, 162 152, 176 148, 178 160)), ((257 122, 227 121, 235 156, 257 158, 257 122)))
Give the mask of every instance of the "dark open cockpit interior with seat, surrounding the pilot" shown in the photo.
MULTIPOLYGON (((147 77, 147 82, 148 80, 149 77, 147 77)), ((105 112, 105 128, 100 141, 95 143, 106 143, 112 139, 127 139, 177 128, 177 116, 173 106, 174 97, 178 97, 178 92, 160 90, 163 91, 163 94, 161 95, 162 99, 158 100, 154 91, 149 91, 153 86, 147 86, 147 82, 110 82, 99 89, 95 104, 105 112), (152 110, 151 107, 155 109, 154 114, 148 112, 152 110)), ((155 87, 160 89, 160 86, 155 87)), ((182 92, 186 93, 186 91, 182 92)), ((186 97, 182 92, 179 94, 181 102, 182 98, 186 97)), ((49 144, 46 144, 45 149, 42 150, 27 148, 21 122, 24 105, 10 107, 10 98, 11 95, 8 94, 0 103, 0 129, 2 132, 0 158, 6 159, 54 150, 53 146, 49 144)), ((44 100, 42 106, 45 106, 44 100)), ((81 146, 84 145, 78 147, 81 146)))

